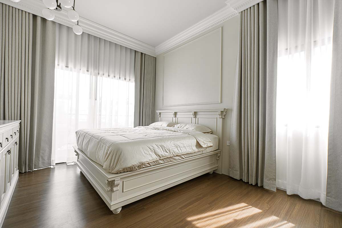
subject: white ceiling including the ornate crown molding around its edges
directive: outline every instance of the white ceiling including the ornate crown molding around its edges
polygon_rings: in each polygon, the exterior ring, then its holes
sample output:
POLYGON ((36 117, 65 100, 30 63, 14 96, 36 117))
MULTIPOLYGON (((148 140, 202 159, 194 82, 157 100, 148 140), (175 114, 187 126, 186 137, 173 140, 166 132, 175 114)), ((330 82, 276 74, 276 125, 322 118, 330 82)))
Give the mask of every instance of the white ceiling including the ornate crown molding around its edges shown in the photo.
MULTIPOLYGON (((83 32, 156 56, 260 1, 76 0, 75 9, 83 32)), ((0 2, 41 17, 46 7, 42 0, 0 2)), ((53 21, 73 27, 75 22, 68 19, 68 10, 55 12, 53 21)))

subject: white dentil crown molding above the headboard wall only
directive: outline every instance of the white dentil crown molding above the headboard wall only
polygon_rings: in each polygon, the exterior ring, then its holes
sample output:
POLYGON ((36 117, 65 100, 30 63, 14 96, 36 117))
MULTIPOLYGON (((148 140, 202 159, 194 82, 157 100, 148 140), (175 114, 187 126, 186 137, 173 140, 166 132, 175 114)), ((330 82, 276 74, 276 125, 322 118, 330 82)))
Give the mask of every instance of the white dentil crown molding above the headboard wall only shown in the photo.
POLYGON ((227 0, 224 8, 216 11, 195 25, 178 33, 174 37, 162 42, 156 46, 156 55, 159 55, 175 46, 207 31, 208 29, 219 25, 228 19, 237 16, 241 11, 255 5, 262 0, 227 0))

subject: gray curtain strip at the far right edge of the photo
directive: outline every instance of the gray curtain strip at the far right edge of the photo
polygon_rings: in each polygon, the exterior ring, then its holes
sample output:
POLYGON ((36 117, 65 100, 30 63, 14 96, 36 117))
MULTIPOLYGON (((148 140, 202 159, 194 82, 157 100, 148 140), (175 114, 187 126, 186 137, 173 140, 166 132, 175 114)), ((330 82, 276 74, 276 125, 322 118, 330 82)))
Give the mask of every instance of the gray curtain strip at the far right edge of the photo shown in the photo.
POLYGON ((334 7, 326 206, 342 212, 342 2, 334 7))

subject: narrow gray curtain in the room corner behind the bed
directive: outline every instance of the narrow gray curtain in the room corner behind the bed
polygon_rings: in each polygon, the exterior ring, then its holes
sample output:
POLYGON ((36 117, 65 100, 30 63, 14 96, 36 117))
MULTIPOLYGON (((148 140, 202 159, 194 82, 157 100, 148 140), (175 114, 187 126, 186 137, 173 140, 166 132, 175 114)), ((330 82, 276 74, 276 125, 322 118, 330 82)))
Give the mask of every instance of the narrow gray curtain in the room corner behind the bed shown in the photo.
POLYGON ((135 52, 134 126, 155 122, 156 57, 135 52))

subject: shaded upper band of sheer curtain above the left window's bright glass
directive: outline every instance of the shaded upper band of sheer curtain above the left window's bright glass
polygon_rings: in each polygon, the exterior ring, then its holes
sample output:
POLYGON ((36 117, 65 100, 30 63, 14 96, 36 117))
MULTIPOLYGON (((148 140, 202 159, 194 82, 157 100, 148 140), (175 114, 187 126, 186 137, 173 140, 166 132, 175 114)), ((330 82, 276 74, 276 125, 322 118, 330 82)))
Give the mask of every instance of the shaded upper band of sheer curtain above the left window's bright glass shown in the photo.
POLYGON ((75 35, 61 24, 56 28, 56 67, 134 82, 135 51, 88 33, 75 35))

